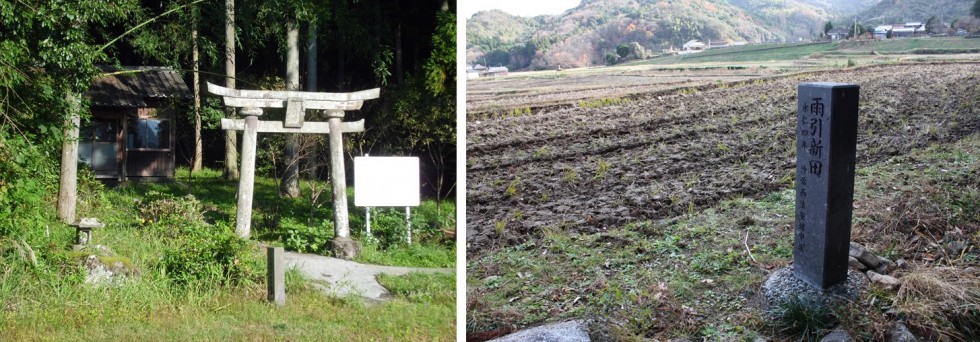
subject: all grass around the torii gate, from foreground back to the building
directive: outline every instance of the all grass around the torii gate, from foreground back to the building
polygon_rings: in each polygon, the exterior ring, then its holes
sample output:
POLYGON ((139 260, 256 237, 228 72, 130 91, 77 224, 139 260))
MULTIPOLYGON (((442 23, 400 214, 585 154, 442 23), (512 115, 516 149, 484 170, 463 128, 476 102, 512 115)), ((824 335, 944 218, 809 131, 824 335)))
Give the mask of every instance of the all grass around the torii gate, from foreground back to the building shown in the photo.
MULTIPOLYGON (((96 184, 80 182, 78 216, 98 217, 106 223, 105 228, 93 231, 93 241, 111 248, 113 255, 100 259, 121 261, 140 272, 109 286, 84 284, 78 253, 69 251, 74 229, 53 220, 41 228, 46 230, 41 234, 44 240, 33 244, 36 264, 26 252, 21 256, 24 248, 19 242, 0 237, 0 340, 455 340, 452 275, 386 277, 395 297, 366 304, 357 297, 324 295, 298 271, 290 270, 286 305, 277 308, 266 301, 264 252, 252 241, 235 259, 249 270, 246 277, 233 282, 179 283, 167 273, 163 257, 174 246, 181 246, 182 237, 173 236, 170 229, 186 222, 167 216, 164 222, 141 223, 137 207, 149 198, 192 194, 197 202, 174 201, 176 208, 184 210, 191 207, 188 203, 199 203, 205 221, 227 227, 234 214, 237 183, 221 180, 217 171, 189 177, 186 170, 180 170, 172 183, 131 183, 113 189, 96 184)), ((276 184, 269 178, 258 177, 256 185, 256 216, 278 210, 282 222, 307 224, 308 201, 278 198, 276 184)), ((413 226, 425 227, 419 229, 419 245, 395 244, 385 252, 370 250, 364 258, 388 264, 451 266, 455 251, 441 240, 441 229, 454 223, 436 215, 438 211, 453 215, 455 208, 424 203, 413 211, 413 226), (430 220, 435 222, 426 222, 430 220)), ((330 217, 328 214, 314 208, 318 221, 330 217)), ((354 217, 352 221, 356 222, 354 217)), ((268 227, 254 223, 253 236, 275 236, 268 233, 268 227)), ((352 226, 356 231, 356 224, 352 226)), ((385 227, 378 224, 378 229, 385 227)))

